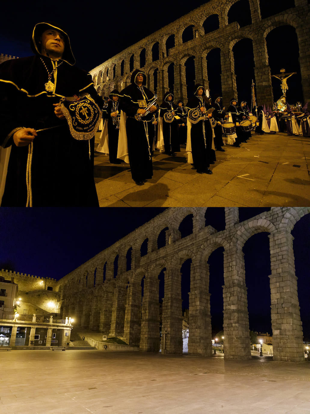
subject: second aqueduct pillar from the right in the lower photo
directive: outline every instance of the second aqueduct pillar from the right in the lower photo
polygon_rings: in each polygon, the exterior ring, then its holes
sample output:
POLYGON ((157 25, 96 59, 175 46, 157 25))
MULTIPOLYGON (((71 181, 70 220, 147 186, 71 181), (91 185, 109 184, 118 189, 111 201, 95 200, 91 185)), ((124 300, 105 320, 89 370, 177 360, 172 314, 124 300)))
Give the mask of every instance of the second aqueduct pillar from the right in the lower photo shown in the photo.
POLYGON ((224 281, 224 358, 250 359, 247 288, 240 246, 224 251, 224 281))

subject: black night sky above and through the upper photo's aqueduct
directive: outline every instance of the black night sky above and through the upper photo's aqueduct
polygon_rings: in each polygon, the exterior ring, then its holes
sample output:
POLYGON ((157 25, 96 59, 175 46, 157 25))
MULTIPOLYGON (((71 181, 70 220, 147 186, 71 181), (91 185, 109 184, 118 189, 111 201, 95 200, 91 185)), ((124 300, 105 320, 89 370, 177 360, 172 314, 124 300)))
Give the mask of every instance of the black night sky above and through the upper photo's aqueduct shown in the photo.
MULTIPOLYGON (((165 2, 164 10, 161 3, 160 6, 156 2, 151 5, 143 5, 142 3, 137 7, 132 2, 122 0, 117 3, 83 3, 73 0, 55 4, 42 1, 25 2, 24 0, 2 2, 2 16, 7 18, 2 19, 0 25, 0 52, 18 57, 32 55, 29 41, 34 25, 42 21, 54 21, 69 34, 77 66, 89 71, 154 31, 207 2, 200 0, 165 2)), ((260 0, 262 17, 269 17, 286 10, 293 3, 293 0, 273 0, 272 2, 260 0)), ((228 18, 229 23, 237 21, 241 27, 250 24, 248 1, 240 0, 232 6, 228 18)), ((279 74, 282 67, 286 72, 297 72, 297 75, 289 79, 288 102, 295 104, 296 101, 301 101, 304 104, 295 29, 291 26, 281 26, 269 33, 266 41, 272 75, 279 74), (283 48, 278 47, 279 39, 285 39, 286 49, 290 53, 283 53, 283 48)), ((222 93, 221 62, 220 54, 217 51, 219 49, 214 49, 207 56, 211 96, 214 93, 222 93)), ((233 51, 238 99, 250 103, 252 79, 256 82, 252 42, 249 39, 243 39, 234 46, 233 51)), ((195 83, 193 58, 189 58, 186 65, 189 96, 195 83)), ((173 84, 173 79, 169 79, 169 85, 171 84, 173 84)), ((281 96, 279 79, 272 78, 272 85, 274 99, 277 100, 281 96)), ((227 99, 231 98, 227 97, 227 99)), ((259 105, 264 103, 258 102, 259 105)))

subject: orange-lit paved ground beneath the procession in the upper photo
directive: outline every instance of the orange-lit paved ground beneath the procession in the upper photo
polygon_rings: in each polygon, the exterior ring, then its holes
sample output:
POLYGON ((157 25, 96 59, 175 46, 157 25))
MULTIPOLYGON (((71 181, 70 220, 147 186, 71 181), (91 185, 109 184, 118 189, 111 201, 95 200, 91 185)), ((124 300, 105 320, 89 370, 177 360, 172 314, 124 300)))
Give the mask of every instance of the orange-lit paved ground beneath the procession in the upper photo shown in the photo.
MULTIPOLYGON (((99 142, 96 135, 95 149, 99 142)), ((129 164, 110 164, 95 152, 100 207, 269 207, 310 205, 310 138, 253 135, 240 148, 216 152, 212 176, 186 163, 185 145, 171 157, 155 151, 154 175, 143 186, 129 164)))

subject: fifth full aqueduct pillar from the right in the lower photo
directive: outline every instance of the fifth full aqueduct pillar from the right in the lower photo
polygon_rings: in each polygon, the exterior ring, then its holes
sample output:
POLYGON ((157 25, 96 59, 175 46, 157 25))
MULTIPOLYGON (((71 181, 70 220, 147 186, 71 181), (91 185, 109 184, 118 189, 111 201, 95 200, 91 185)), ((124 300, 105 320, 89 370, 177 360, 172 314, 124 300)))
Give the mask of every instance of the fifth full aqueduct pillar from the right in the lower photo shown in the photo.
POLYGON ((156 275, 145 277, 140 341, 142 351, 159 352, 160 350, 158 292, 158 277, 156 275))

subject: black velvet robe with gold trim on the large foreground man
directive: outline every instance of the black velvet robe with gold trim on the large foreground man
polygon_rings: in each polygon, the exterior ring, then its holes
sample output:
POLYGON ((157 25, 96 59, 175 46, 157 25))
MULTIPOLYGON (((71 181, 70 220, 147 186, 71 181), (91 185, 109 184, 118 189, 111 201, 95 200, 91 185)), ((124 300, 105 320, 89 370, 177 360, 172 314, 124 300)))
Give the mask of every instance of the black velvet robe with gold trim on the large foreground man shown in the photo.
MULTIPOLYGON (((50 58, 41 56, 48 71, 50 58)), ((26 164, 28 147, 17 147, 13 141, 16 128, 38 132, 33 140, 31 188, 33 206, 98 206, 93 178, 93 146, 89 159, 88 141, 72 138, 65 119, 54 113, 53 103, 64 96, 88 92, 102 107, 90 75, 84 70, 61 64, 54 73, 55 90, 45 91, 48 73, 40 56, 8 60, 0 65, 0 143, 11 148, 2 206, 26 206, 26 164)))

